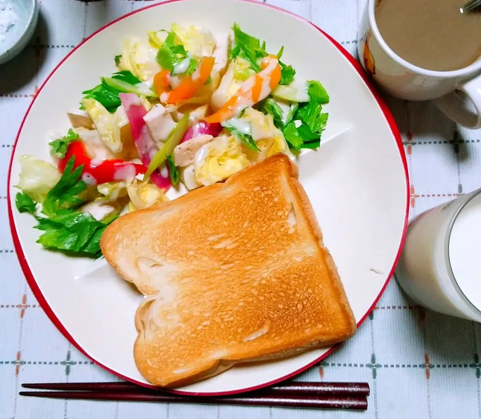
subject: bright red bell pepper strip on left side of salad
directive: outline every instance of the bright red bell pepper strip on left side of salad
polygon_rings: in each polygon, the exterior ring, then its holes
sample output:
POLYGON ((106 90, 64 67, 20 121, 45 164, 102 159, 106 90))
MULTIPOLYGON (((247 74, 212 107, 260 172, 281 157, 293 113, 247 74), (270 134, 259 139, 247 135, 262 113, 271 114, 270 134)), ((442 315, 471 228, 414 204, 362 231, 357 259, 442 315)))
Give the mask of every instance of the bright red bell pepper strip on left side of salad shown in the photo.
POLYGON ((63 173, 68 161, 75 157, 73 169, 84 165, 82 180, 87 185, 130 181, 139 174, 144 174, 147 168, 143 164, 135 164, 120 159, 95 160, 87 155, 84 143, 74 141, 69 144, 65 157, 59 160, 59 170, 63 173))

